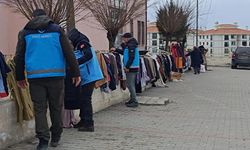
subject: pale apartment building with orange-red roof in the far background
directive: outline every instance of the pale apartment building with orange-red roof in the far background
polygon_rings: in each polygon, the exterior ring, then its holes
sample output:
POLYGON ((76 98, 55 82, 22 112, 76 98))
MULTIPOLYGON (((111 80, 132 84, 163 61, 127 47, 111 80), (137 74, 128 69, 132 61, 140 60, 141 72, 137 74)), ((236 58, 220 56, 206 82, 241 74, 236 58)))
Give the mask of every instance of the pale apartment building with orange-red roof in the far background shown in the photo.
MULTIPOLYGON (((208 49, 210 56, 227 56, 237 47, 250 46, 250 30, 237 24, 217 24, 214 29, 199 30, 198 44, 208 49)), ((195 32, 187 35, 187 48, 196 45, 195 32)))

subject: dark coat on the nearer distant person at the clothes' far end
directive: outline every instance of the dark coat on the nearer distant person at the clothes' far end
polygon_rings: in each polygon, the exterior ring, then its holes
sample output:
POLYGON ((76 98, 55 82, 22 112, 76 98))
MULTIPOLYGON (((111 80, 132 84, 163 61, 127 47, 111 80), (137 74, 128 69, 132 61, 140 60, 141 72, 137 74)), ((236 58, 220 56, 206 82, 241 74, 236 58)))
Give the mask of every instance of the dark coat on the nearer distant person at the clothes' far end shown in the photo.
POLYGON ((200 67, 200 65, 203 64, 202 54, 198 48, 194 48, 194 50, 189 52, 186 56, 191 56, 192 67, 200 67))

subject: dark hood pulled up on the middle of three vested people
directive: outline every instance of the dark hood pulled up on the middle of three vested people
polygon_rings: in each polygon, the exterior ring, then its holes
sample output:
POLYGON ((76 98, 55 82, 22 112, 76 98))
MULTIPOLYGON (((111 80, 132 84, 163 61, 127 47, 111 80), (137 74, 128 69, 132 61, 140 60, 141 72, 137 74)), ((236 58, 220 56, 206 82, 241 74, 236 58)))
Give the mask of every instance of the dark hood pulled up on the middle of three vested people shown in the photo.
POLYGON ((68 38, 70 39, 75 48, 78 46, 78 43, 80 42, 84 43, 86 47, 91 47, 89 38, 80 31, 78 31, 77 29, 72 29, 68 33, 68 38))

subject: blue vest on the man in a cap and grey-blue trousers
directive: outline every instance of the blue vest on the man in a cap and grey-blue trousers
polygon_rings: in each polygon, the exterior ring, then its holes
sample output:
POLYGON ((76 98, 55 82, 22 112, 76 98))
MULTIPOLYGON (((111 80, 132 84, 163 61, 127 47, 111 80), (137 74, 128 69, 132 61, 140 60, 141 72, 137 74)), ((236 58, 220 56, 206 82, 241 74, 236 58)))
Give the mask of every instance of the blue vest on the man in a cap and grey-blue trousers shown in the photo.
MULTIPOLYGON (((123 54, 123 63, 125 66, 128 63, 128 60, 129 60, 129 50, 128 48, 126 48, 124 49, 124 54, 123 54)), ((130 68, 127 69, 133 69, 133 68, 140 68, 140 54, 138 48, 135 49, 135 58, 132 65, 130 66, 130 68)))

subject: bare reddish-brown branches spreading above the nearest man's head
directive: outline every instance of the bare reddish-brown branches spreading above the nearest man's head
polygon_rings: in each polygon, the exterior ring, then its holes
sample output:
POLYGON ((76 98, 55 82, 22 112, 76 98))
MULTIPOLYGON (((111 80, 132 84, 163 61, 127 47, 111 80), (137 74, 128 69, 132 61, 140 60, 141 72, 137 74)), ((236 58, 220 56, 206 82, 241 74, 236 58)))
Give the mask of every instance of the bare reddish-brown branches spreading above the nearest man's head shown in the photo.
MULTIPOLYGON (((81 3, 84 0, 81 0, 81 3)), ((75 16, 79 16, 77 21, 86 18, 87 14, 82 14, 84 8, 79 0, 0 0, 16 13, 23 14, 27 19, 32 19, 32 12, 37 9, 44 9, 50 18, 63 27, 71 29, 75 26, 75 16), (67 22, 68 21, 68 22, 67 22)))

